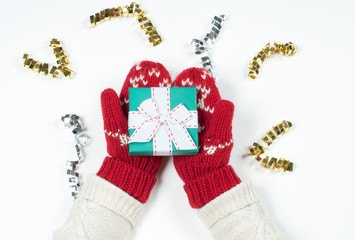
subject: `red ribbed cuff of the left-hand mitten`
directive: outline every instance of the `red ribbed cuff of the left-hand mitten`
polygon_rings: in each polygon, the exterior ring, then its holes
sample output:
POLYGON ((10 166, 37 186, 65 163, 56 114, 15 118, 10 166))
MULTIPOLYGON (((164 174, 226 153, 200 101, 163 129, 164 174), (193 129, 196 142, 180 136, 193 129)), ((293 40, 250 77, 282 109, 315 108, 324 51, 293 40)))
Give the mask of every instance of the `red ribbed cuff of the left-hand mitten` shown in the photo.
POLYGON ((147 202, 156 182, 153 175, 111 157, 105 158, 97 175, 119 187, 141 203, 147 202))

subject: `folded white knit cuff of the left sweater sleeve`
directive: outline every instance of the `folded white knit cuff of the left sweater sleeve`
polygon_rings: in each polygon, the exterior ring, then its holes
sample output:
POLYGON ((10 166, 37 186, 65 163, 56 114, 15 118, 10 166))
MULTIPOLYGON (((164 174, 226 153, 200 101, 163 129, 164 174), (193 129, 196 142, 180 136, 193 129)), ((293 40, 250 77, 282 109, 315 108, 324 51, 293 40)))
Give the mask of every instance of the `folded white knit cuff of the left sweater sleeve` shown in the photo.
POLYGON ((79 198, 85 198, 126 218, 132 226, 135 225, 142 203, 127 193, 95 175, 89 175, 79 193, 79 198))

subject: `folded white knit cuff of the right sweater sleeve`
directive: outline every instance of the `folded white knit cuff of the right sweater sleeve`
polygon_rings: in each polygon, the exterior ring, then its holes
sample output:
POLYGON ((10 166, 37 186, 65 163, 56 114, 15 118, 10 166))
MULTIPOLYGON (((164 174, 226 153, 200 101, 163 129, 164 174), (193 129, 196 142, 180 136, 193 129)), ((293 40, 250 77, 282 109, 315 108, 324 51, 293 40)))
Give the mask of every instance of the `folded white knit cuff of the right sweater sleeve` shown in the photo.
POLYGON ((251 185, 243 182, 199 209, 197 215, 206 227, 211 228, 225 216, 257 201, 251 185))

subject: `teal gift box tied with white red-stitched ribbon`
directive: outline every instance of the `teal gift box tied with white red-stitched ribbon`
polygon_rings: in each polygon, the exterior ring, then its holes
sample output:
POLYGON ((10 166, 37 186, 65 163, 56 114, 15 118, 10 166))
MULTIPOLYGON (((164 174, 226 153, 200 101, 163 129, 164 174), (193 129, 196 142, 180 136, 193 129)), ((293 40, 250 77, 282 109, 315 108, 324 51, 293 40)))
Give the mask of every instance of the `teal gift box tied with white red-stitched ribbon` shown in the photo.
POLYGON ((128 130, 131 156, 196 155, 196 88, 130 88, 128 130))

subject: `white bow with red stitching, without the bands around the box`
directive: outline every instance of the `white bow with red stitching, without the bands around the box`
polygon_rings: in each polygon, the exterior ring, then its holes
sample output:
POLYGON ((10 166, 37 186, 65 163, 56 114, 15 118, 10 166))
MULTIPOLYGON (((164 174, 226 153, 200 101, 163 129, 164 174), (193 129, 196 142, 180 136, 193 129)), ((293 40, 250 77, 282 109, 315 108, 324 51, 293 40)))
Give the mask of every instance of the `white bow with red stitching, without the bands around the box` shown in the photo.
POLYGON ((130 137, 130 143, 149 142, 158 129, 164 126, 177 150, 197 149, 185 126, 185 123, 192 118, 192 114, 182 103, 167 114, 163 114, 159 111, 154 98, 148 98, 138 106, 138 110, 139 115, 144 119, 141 119, 142 123, 130 137))

